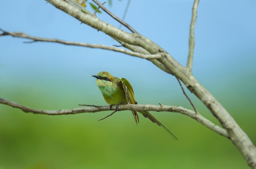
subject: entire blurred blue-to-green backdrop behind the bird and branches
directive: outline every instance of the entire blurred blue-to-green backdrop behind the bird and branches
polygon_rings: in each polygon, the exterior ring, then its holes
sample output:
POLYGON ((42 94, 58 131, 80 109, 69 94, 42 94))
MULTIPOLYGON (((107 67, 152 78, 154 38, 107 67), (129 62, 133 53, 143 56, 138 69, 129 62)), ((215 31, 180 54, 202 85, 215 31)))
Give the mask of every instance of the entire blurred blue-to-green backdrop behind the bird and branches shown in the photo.
MULTIPOLYGON (((131 2, 126 22, 185 65, 192 5, 193 1, 181 0, 131 2)), ((125 6, 125 1, 115 1, 112 7, 106 4, 120 18, 125 6)), ((254 145, 255 7, 254 1, 200 1, 193 62, 195 77, 231 113, 254 145)), ((15 11, 10 9, 11 1, 0 2, 0 28, 6 31, 117 44, 44 0, 24 0, 15 11)), ((97 16, 119 26, 106 13, 97 16)), ((23 43, 27 41, 0 37, 1 98, 48 110, 106 105, 91 76, 109 71, 130 81, 140 104, 160 102, 192 109, 177 80, 151 62, 105 50, 23 43)), ((204 105, 187 93, 198 111, 219 125, 204 105)), ((249 168, 227 138, 182 114, 151 112, 179 139, 175 141, 143 116, 136 126, 130 111, 98 121, 109 113, 46 116, 0 105, 0 169, 249 168)))

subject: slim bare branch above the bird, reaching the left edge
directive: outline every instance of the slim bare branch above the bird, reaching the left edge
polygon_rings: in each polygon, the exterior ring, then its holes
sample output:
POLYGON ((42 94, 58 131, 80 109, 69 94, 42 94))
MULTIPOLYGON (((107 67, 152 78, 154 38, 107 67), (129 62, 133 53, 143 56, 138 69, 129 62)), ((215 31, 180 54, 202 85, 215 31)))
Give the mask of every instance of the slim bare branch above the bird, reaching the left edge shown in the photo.
POLYGON ((70 42, 70 41, 65 41, 65 40, 59 40, 59 39, 51 39, 51 38, 39 38, 39 37, 34 37, 34 36, 29 36, 26 33, 23 32, 7 32, 2 29, 0 29, 3 33, 0 33, 0 36, 13 36, 13 37, 18 37, 18 38, 27 38, 31 39, 31 42, 25 42, 25 43, 33 43, 33 42, 55 42, 55 43, 61 43, 61 44, 66 44, 66 45, 75 45, 75 46, 81 46, 81 47, 90 47, 90 48, 99 48, 99 49, 106 49, 106 50, 111 50, 111 51, 117 51, 121 53, 125 53, 127 55, 131 56, 136 56, 139 58, 144 58, 144 59, 158 59, 161 57, 161 53, 156 53, 156 54, 143 54, 143 53, 138 53, 138 52, 133 52, 133 51, 128 51, 126 49, 122 48, 117 48, 117 47, 111 47, 107 45, 102 45, 102 44, 90 44, 90 43, 83 43, 83 42, 70 42))

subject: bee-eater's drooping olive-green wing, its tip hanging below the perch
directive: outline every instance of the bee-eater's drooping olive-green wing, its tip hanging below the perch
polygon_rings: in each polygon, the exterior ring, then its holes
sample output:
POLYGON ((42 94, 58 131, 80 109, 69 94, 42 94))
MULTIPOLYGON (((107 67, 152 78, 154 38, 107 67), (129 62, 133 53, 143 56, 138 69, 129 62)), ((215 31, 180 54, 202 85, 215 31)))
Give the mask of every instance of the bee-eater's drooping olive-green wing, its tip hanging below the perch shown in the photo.
MULTIPOLYGON (((132 85, 130 84, 130 82, 128 80, 126 80, 125 78, 122 78, 121 82, 123 85, 124 93, 125 93, 126 100, 127 100, 128 104, 131 104, 131 105, 137 104, 135 97, 134 97, 132 85)), ((138 124, 139 116, 137 114, 137 111, 132 111, 132 115, 134 117, 136 124, 138 124)))

